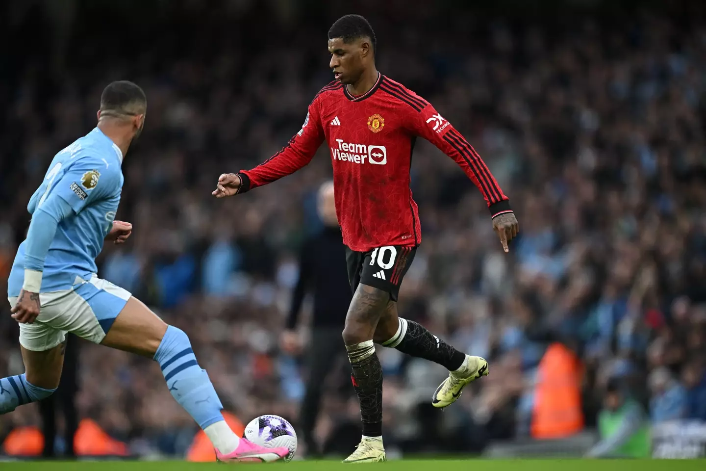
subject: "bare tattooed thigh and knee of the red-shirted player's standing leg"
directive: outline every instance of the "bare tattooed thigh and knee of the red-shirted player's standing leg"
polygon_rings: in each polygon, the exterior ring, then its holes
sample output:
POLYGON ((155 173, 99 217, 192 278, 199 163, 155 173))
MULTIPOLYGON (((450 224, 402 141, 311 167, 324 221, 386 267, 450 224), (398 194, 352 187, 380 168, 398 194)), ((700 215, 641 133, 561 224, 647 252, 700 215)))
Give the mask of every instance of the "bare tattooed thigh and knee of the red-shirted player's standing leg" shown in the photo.
POLYGON ((372 340, 389 301, 390 293, 368 285, 358 285, 346 315, 343 336, 347 345, 372 340))

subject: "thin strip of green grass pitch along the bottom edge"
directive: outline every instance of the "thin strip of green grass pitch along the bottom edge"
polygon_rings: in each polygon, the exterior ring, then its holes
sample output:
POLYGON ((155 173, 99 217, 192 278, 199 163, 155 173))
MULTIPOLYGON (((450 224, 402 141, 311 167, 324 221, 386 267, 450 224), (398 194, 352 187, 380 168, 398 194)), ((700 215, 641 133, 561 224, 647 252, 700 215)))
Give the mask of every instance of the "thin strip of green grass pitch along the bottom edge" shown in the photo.
MULTIPOLYGON (((25 461, 0 463, 2 471, 203 471, 224 470, 228 465, 184 461, 25 461)), ((231 466, 248 466, 231 465, 231 466)), ((336 471, 354 465, 335 461, 273 463, 268 470, 336 471)), ((706 470, 706 460, 395 460, 362 465, 364 470, 387 471, 697 471, 706 470)), ((355 468, 357 469, 357 467, 355 468)))

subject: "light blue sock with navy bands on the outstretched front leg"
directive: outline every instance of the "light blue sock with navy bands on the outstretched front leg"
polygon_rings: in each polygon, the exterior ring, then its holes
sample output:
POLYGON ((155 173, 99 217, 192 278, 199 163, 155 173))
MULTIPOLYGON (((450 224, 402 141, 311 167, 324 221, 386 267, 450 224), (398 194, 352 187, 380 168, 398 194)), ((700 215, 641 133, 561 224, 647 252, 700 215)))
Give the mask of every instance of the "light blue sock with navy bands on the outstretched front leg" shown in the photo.
POLYGON ((198 366, 189 337, 183 330, 167 327, 155 361, 162 368, 169 392, 201 429, 223 420, 220 412, 223 405, 206 370, 198 366))

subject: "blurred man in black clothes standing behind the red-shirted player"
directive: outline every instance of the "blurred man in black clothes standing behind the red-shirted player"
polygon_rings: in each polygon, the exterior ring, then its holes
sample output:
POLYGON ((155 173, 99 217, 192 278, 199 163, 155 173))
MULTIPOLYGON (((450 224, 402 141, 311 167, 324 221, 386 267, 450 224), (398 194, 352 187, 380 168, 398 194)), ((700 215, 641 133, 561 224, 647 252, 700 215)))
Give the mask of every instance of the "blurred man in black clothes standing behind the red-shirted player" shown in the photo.
POLYGON ((348 284, 345 246, 336 218, 333 181, 327 181, 318 191, 318 215, 324 228, 319 234, 306 240, 302 246, 299 280, 292 296, 287 330, 282 333, 282 350, 289 353, 298 352, 301 344, 295 329, 304 296, 311 292, 311 340, 307 347, 306 359, 309 375, 299 414, 299 431, 309 455, 320 453, 313 438, 313 429, 316 426, 325 377, 335 366, 336 360, 345 357, 341 331, 352 297, 348 284))

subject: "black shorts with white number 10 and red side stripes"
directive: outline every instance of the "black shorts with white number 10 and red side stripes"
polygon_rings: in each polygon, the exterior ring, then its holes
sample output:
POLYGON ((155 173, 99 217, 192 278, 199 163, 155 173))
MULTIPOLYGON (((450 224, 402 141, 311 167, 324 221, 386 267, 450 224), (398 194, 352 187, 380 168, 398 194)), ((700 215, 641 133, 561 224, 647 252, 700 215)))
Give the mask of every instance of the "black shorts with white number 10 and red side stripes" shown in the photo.
POLYGON ((346 247, 348 282, 355 294, 361 283, 390 293, 397 301, 405 273, 412 266, 417 247, 384 246, 367 252, 356 252, 346 247))

